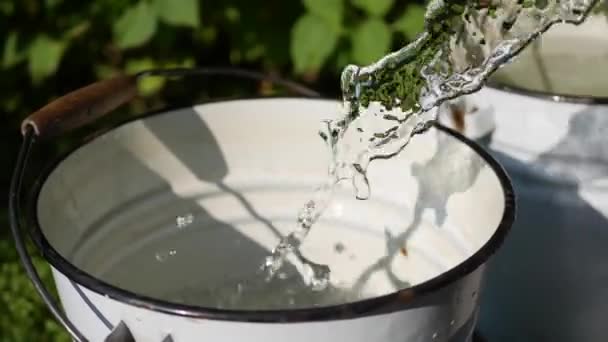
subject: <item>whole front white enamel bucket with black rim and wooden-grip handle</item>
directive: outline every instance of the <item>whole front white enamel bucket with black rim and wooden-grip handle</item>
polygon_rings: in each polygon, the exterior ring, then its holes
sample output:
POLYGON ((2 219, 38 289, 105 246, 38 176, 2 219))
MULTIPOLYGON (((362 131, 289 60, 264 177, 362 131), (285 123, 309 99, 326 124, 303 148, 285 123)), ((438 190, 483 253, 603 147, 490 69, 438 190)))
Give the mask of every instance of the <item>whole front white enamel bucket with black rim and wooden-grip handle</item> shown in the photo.
POLYGON ((229 302, 234 291, 224 289, 247 285, 326 174, 317 129, 340 103, 297 97, 149 114, 83 141, 40 174, 24 221, 52 266, 64 314, 21 236, 28 157, 40 141, 128 101, 145 75, 83 88, 23 125, 13 234, 75 340, 471 341, 485 264, 510 228, 514 199, 500 166, 441 126, 371 165, 371 199, 337 191, 303 246, 332 267, 335 292, 285 296, 269 286, 255 302, 229 302))

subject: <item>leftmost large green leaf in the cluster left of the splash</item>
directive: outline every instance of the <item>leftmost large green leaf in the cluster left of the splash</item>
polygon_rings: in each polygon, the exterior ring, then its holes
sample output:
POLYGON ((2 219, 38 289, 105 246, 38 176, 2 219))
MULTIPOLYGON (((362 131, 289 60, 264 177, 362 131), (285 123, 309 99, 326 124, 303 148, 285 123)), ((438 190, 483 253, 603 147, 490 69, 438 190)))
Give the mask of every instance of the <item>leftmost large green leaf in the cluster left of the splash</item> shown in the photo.
POLYGON ((291 58, 296 73, 317 71, 331 55, 338 34, 322 18, 305 14, 291 31, 291 58))

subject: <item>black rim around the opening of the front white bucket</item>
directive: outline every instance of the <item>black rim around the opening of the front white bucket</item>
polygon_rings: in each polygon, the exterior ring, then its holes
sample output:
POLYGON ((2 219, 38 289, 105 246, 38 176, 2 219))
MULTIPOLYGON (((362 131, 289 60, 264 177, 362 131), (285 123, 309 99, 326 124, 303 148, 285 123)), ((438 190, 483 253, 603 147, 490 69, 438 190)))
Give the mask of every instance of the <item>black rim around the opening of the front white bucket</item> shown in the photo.
MULTIPOLYGON (((331 101, 338 102, 336 99, 321 97, 321 98, 302 98, 302 97, 241 97, 236 99, 219 99, 210 100, 190 105, 191 107, 206 105, 218 102, 233 102, 233 101, 252 101, 252 100, 293 100, 299 101, 331 101)), ((38 202, 40 192, 47 179, 52 172, 74 152, 94 141, 101 135, 108 133, 119 127, 130 123, 154 117, 162 114, 189 108, 187 105, 169 106, 160 110, 150 111, 141 115, 129 117, 121 121, 119 124, 112 127, 106 127, 96 130, 93 134, 80 139, 74 146, 70 147, 60 156, 53 158, 48 166, 41 171, 36 177, 32 196, 30 197, 28 212, 26 213, 30 227, 29 233, 35 246, 42 253, 46 261, 63 276, 75 285, 86 288, 100 296, 111 298, 122 304, 127 304, 142 309, 151 310, 158 313, 175 315, 180 317, 189 317, 197 319, 209 319, 216 321, 236 321, 236 322, 255 322, 255 323, 300 323, 314 321, 334 321, 343 319, 362 318, 380 314, 388 314, 396 311, 407 310, 420 306, 420 301, 429 294, 437 293, 445 290, 452 284, 456 284, 459 280, 464 279, 469 274, 476 271, 480 266, 484 265, 488 259, 500 248, 507 234, 511 230, 515 220, 515 193, 511 179, 500 163, 490 155, 481 145, 466 138, 459 132, 435 122, 433 126, 439 131, 452 136, 458 141, 464 143, 477 153, 492 169, 503 191, 504 210, 498 226, 492 236, 479 248, 475 253, 469 256, 455 267, 443 272, 427 281, 420 284, 391 292, 382 296, 372 297, 368 299, 335 304, 322 307, 298 308, 298 309, 279 309, 279 310, 227 310, 213 307, 203 307, 197 305, 187 305, 172 303, 166 300, 144 296, 133 291, 122 289, 111 285, 93 275, 79 269, 66 258, 64 258, 47 240, 44 235, 39 219, 38 219, 38 202)))

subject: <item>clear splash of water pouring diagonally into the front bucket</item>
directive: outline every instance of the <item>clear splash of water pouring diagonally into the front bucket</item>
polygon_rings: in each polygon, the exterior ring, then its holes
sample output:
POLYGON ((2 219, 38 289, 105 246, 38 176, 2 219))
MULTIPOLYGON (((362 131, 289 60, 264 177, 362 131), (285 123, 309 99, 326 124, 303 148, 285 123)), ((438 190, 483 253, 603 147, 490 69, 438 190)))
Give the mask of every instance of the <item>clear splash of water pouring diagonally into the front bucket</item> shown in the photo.
POLYGON ((307 284, 324 289, 329 268, 307 260, 299 247, 336 185, 350 180, 357 198, 368 198, 371 161, 398 154, 437 119, 435 108, 479 90, 551 26, 582 23, 597 2, 433 0, 425 31, 412 43, 369 66, 347 66, 342 73, 344 115, 326 122, 321 131, 332 155, 328 180, 299 212, 296 229, 267 258, 267 280, 289 261, 307 284))

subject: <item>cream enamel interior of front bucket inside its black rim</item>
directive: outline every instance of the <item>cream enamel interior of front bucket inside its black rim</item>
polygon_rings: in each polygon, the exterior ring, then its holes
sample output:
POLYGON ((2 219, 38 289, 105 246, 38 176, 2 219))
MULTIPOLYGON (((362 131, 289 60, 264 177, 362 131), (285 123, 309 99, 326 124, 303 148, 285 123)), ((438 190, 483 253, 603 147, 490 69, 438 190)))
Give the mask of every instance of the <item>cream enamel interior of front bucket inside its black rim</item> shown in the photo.
POLYGON ((260 262, 326 175, 314 132, 338 112, 333 101, 243 100, 121 126, 51 173, 42 232, 70 263, 123 290, 258 310, 388 294, 488 241, 503 215, 500 181, 470 147, 432 130, 370 167, 369 200, 342 186, 306 239, 305 257, 332 267, 329 289, 312 293, 293 268, 256 287, 260 262))

